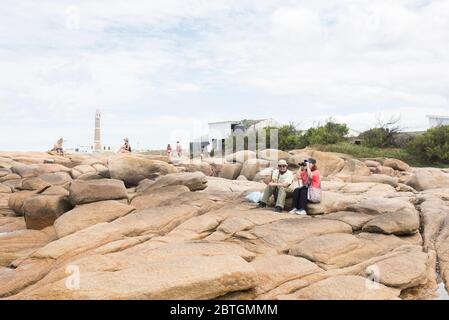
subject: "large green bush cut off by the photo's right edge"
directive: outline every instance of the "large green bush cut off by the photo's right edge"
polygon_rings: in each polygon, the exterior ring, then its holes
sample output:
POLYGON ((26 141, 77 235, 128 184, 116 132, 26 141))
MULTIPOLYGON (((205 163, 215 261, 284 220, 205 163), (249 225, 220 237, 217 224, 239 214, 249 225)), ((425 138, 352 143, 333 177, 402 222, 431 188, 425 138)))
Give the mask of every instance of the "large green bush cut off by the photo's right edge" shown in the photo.
POLYGON ((422 160, 449 163, 449 125, 431 128, 415 137, 407 150, 422 160))

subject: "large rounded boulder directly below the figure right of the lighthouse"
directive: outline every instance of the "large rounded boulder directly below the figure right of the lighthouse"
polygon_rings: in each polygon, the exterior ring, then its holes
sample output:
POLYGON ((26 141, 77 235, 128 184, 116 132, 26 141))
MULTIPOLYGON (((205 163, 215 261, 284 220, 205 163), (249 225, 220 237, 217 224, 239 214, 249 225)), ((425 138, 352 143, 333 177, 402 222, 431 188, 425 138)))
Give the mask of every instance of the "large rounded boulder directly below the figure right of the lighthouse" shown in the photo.
POLYGON ((164 161, 133 156, 116 156, 108 160, 111 178, 122 180, 127 186, 137 186, 143 179, 156 179, 176 173, 174 166, 164 161))

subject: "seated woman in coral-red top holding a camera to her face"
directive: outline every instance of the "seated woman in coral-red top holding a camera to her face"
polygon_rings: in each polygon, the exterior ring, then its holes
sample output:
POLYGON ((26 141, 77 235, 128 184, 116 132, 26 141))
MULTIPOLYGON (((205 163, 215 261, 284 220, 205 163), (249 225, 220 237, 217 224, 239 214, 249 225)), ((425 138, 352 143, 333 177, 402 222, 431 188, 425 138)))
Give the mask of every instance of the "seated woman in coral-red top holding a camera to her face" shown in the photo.
POLYGON ((315 159, 308 159, 299 164, 299 187, 293 191, 293 209, 290 213, 307 215, 307 203, 319 202, 321 197, 321 178, 315 159))

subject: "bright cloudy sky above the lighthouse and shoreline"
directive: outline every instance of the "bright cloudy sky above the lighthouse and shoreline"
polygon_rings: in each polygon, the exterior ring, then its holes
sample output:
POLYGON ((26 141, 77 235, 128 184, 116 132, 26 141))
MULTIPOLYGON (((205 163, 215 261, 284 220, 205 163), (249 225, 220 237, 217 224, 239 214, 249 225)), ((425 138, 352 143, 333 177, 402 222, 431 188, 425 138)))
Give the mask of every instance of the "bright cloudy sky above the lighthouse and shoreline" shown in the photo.
POLYGON ((0 150, 449 115, 449 0, 2 0, 0 150))

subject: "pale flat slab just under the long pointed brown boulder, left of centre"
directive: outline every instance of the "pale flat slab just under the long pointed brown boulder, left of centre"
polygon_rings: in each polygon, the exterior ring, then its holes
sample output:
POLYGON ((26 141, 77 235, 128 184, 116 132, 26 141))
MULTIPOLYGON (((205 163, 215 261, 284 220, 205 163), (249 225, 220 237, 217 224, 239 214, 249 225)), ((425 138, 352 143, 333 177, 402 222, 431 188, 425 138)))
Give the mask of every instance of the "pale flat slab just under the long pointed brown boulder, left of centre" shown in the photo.
POLYGON ((180 194, 189 191, 189 188, 184 185, 161 187, 154 190, 149 190, 143 195, 137 195, 131 200, 131 205, 137 210, 154 208, 168 200, 176 202, 176 198, 180 194))

